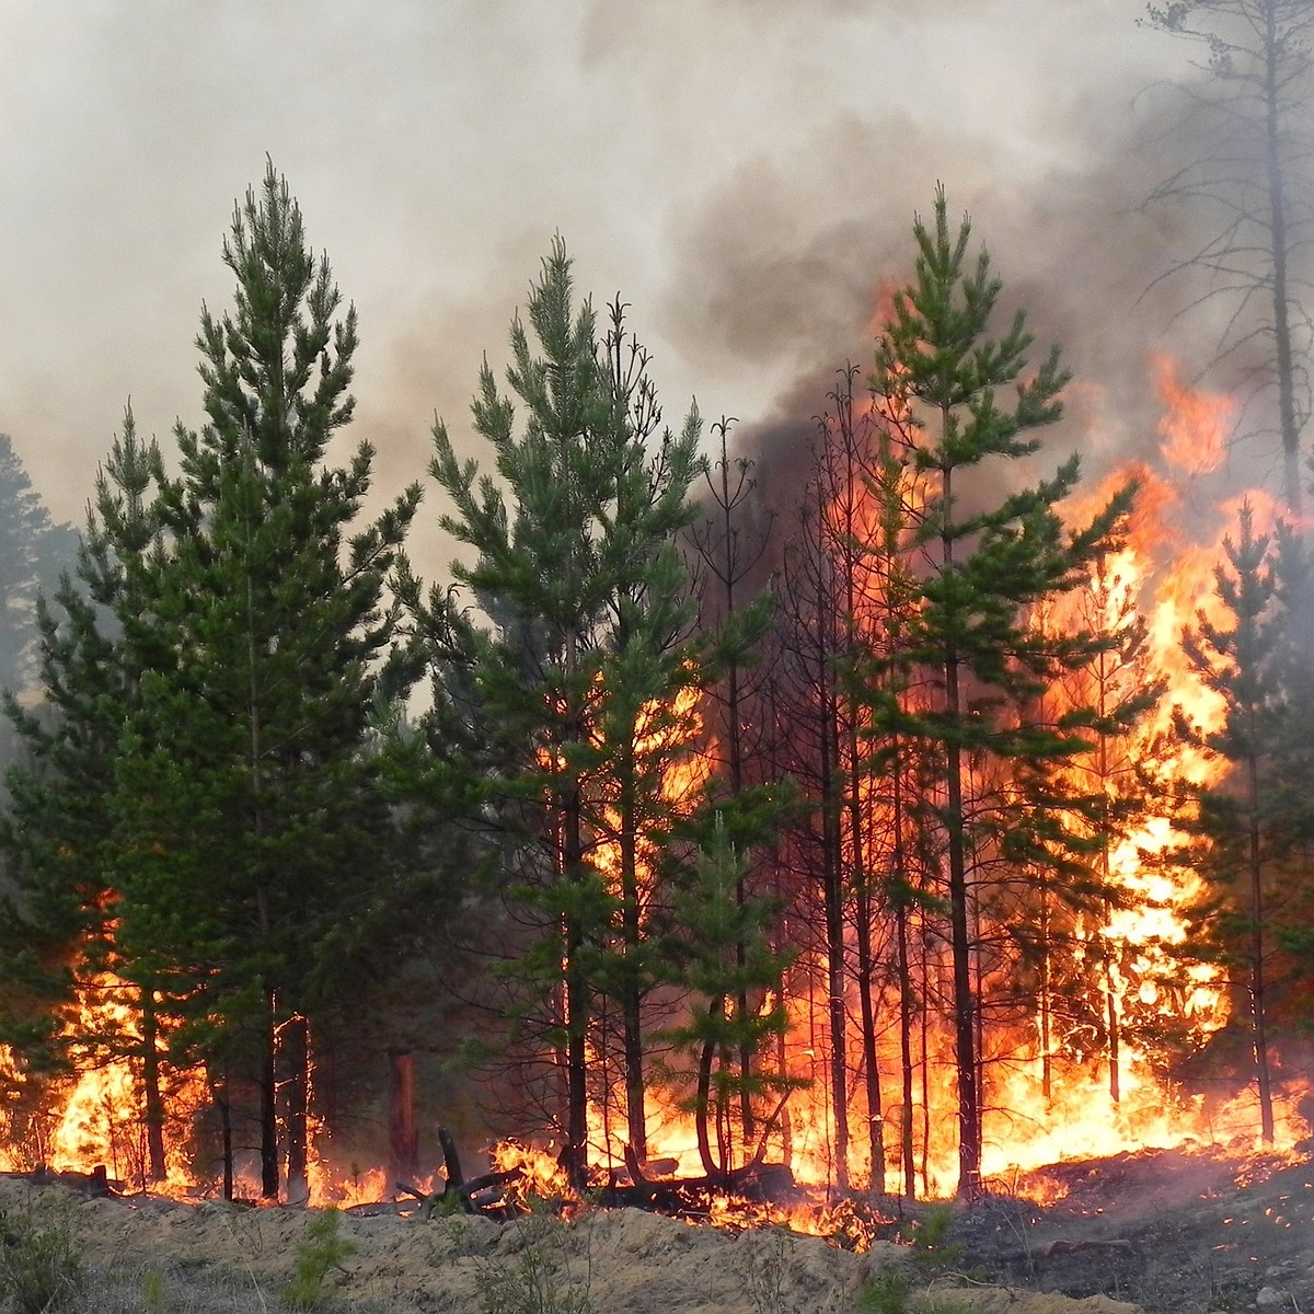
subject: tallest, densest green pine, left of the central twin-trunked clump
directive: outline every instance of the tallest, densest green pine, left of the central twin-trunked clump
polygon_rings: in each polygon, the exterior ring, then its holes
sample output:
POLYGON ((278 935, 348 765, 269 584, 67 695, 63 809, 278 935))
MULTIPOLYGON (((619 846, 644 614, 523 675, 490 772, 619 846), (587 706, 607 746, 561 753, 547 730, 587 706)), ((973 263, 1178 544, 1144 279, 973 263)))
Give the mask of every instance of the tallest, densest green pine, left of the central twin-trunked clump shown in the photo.
POLYGON ((344 466, 356 317, 271 164, 237 208, 231 313, 201 318, 209 422, 176 430, 152 608, 168 661, 143 677, 121 767, 120 938, 172 962, 202 1055, 256 1060, 261 1190, 305 1189, 306 1030, 344 987, 346 936, 386 872, 388 811, 363 752, 396 611, 385 581, 419 487, 360 526, 373 449, 344 466), (240 1050, 242 1046, 239 1045, 240 1050), (279 1092, 288 1095, 279 1109, 279 1092))

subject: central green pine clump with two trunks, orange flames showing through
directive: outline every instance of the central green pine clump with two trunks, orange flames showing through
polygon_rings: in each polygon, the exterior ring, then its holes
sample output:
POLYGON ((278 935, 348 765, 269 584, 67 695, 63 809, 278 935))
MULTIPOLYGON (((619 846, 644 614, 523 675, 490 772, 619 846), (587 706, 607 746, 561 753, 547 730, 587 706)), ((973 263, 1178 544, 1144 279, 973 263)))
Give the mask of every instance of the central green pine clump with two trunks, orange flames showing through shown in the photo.
POLYGON ((645 880, 674 824, 660 781, 691 752, 681 721, 702 678, 678 555, 699 422, 691 413, 653 451, 646 353, 619 302, 599 340, 591 306, 574 306, 560 240, 528 321, 543 355, 516 319, 507 371, 523 432, 487 364, 473 403, 501 486, 456 457, 442 423, 434 431, 431 469, 452 505, 440 524, 477 553, 453 576, 490 628, 443 590, 422 603, 413 582, 410 600, 431 649, 469 671, 468 716, 495 745, 487 807, 533 924, 514 974, 533 1001, 524 1021, 539 1059, 560 1056, 564 1163, 582 1181, 589 1043, 604 999, 622 1016, 628 1135, 644 1152, 641 1009, 657 974, 645 880))

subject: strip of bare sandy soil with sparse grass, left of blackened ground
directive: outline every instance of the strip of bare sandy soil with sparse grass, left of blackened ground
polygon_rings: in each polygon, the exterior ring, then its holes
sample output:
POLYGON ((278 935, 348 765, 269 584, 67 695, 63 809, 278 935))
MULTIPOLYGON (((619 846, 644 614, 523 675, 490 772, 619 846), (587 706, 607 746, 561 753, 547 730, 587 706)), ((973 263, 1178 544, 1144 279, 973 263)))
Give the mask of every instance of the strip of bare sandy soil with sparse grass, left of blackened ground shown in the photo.
MULTIPOLYGON (((17 1179, 0 1179, 0 1210, 53 1222, 74 1238, 92 1281, 70 1314, 285 1309, 281 1293, 314 1217, 292 1208, 85 1198, 17 1179)), ((913 1263, 907 1246, 890 1242, 855 1255, 781 1229, 733 1234, 633 1209, 591 1210, 574 1223, 344 1213, 339 1230, 353 1250, 317 1307, 356 1314, 848 1314, 861 1307, 872 1275, 913 1263)), ((918 1269, 915 1285, 932 1276, 918 1269)), ((959 1292, 946 1275, 934 1285, 941 1309, 955 1288, 954 1302, 980 1314, 1135 1314, 1102 1296, 1074 1302, 979 1281, 959 1292)))

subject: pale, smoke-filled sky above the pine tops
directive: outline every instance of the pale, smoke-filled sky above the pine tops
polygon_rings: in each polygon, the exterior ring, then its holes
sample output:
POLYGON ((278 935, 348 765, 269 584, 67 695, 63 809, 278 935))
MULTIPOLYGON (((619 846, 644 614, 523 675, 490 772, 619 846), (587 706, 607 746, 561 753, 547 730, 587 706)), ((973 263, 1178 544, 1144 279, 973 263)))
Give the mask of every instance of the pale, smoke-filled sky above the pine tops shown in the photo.
MULTIPOLYGON (((166 449, 201 423, 200 310, 230 304, 222 239, 268 158, 356 305, 351 432, 381 497, 426 477, 435 415, 478 455, 480 361, 501 373, 555 234, 582 293, 631 305, 668 419, 696 398, 749 445, 799 442, 870 356, 937 183, 1068 352, 1087 414, 1067 442, 1099 469, 1151 442, 1146 353, 1173 332, 1144 296, 1173 222, 1138 209, 1155 163, 1135 143, 1188 53, 1143 12, 0 0, 0 432, 80 524, 129 399, 166 449)), ((440 510, 430 485, 431 577, 440 510)))

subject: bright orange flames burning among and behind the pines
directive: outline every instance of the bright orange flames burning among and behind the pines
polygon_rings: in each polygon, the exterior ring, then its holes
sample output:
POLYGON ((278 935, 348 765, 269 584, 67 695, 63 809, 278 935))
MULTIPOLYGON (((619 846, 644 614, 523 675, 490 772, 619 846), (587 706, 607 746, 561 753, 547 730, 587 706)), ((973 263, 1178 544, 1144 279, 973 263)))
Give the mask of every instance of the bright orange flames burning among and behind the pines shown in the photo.
MULTIPOLYGON (((1181 367, 1168 357, 1155 357, 1151 369, 1164 405, 1158 426, 1162 440, 1159 468, 1192 474, 1217 470, 1238 415, 1236 401, 1183 384, 1181 367)), ((854 418, 857 422, 882 419, 870 399, 855 402, 854 418)), ((897 426, 907 417, 899 413, 883 418, 897 426)), ((1137 481, 1139 495, 1126 541, 1100 564, 1089 587, 1080 597, 1074 595, 1068 606, 1088 608, 1085 622, 1099 612, 1099 619, 1109 625, 1120 624, 1120 618, 1130 614, 1143 618, 1146 666, 1137 678, 1147 682, 1162 678, 1167 682, 1167 694, 1159 706, 1131 738, 1118 746, 1122 758, 1148 765, 1167 781, 1210 782, 1217 778, 1219 763, 1189 745, 1169 742, 1167 732, 1179 708, 1205 731, 1221 724, 1222 702, 1189 669, 1181 652, 1181 632, 1201 612, 1215 622, 1223 619, 1214 610, 1213 573, 1221 558, 1221 532, 1234 522, 1240 498, 1221 507, 1219 533, 1198 533, 1192 528, 1172 478, 1147 461, 1116 472, 1096 489, 1075 498, 1071 507, 1074 523, 1101 506, 1109 493, 1129 478, 1137 481)), ((915 510, 917 498, 924 495, 925 490, 912 490, 915 510)), ((1256 511, 1257 527, 1263 530, 1276 522, 1279 509, 1275 499, 1259 490, 1244 495, 1256 511)), ((862 478, 841 482, 827 514, 832 518, 829 530, 834 541, 846 548, 870 541, 879 526, 879 507, 871 495, 870 482, 862 478)), ((883 566, 861 553, 853 564, 858 603, 849 614, 849 623, 875 633, 882 623, 880 608, 874 599, 879 599, 884 585, 883 566)), ((1037 618, 1037 623, 1076 625, 1083 623, 1083 618, 1064 607, 1055 607, 1043 618, 1037 618)), ((908 696, 913 699, 917 695, 908 696)), ((1056 689, 1047 696, 1060 703, 1066 695, 1056 689)), ((691 678, 670 706, 646 706, 635 728, 636 752, 664 763, 660 794, 677 811, 692 807, 712 771, 715 754, 711 749, 702 756, 683 752, 702 735, 700 711, 699 692, 691 678)), ((553 748, 541 749, 540 759, 545 766, 566 767, 564 757, 553 748)), ((1008 787, 1003 779, 989 783, 997 788, 1008 787)), ((866 792, 861 804, 871 817, 870 830, 874 834, 880 828, 886 803, 871 782, 863 788, 866 792)), ((619 832, 622 819, 614 799, 598 800, 598 817, 600 834, 593 846, 591 861, 598 863, 612 887, 619 888, 620 850, 615 832, 619 832)), ((1194 1143, 1226 1146, 1238 1154, 1240 1162, 1256 1148, 1254 1091, 1243 1091, 1227 1104, 1183 1092, 1164 1077, 1150 1047, 1137 1038, 1134 1024, 1154 1020, 1183 1029, 1198 1045, 1229 1020, 1230 996, 1219 971, 1205 963, 1183 966, 1176 953, 1187 937, 1187 909, 1198 895, 1194 878, 1184 875, 1177 867, 1169 870, 1166 861, 1179 842, 1175 817, 1167 811, 1143 817, 1108 849, 1108 871, 1122 897, 1104 909, 1084 909, 1074 917, 1070 928, 1070 966, 1079 982, 1072 989, 1080 996, 1076 1001, 1087 1016, 1109 1018, 1110 1028, 1125 1029, 1116 1056, 1109 1045, 1093 1033, 1083 1038, 1077 1022, 1071 1018, 1014 1018, 1008 1028, 987 1031, 983 1053, 986 1177, 1033 1198, 1045 1198, 1046 1193, 1053 1196, 1060 1188, 1053 1181, 1046 1184, 1038 1169, 1063 1159, 1194 1143)), ((867 836, 857 840, 849 836, 845 844, 849 845, 848 861, 861 858, 870 869, 883 859, 875 841, 867 836)), ((645 900, 654 888, 653 857, 653 842, 643 837, 637 858, 645 900)), ((937 917, 938 913, 921 904, 908 912, 908 940, 917 955, 913 968, 924 995, 930 1000, 949 995, 949 963, 937 917)), ((788 925, 782 930, 782 936, 787 934, 788 925)), ((851 954, 851 909, 845 934, 845 949, 851 954)), ((992 979, 984 982, 986 987, 995 984, 999 983, 992 979)), ((838 1148, 834 1100, 829 1089, 828 1013, 832 1001, 828 991, 823 951, 811 943, 804 945, 782 983, 781 1003, 787 1028, 773 1062, 784 1075, 805 1079, 809 1085, 791 1095, 769 1135, 769 1159, 787 1166, 799 1183, 796 1198, 792 1204, 762 1202, 744 1194, 708 1192, 691 1200, 686 1210, 691 1221, 735 1229, 771 1222, 796 1231, 841 1235, 845 1244, 855 1248, 866 1248, 888 1223, 874 1212, 863 1212, 851 1198, 829 1198, 837 1179, 838 1148)), ((774 996, 765 999, 761 1007, 770 1008, 773 1003, 774 996)), ((862 1000, 851 972, 841 1003, 848 1017, 859 1014, 862 1000)), ((876 999, 875 1005, 882 1014, 876 1066, 883 1083, 883 1106, 869 1110, 861 1091, 844 1092, 851 1123, 845 1162, 848 1177, 858 1184, 874 1185, 879 1176, 887 1184, 905 1185, 896 1133, 907 1114, 912 1120, 916 1162, 912 1185, 922 1196, 947 1194, 957 1184, 958 1172, 951 1031, 942 1010, 926 1008, 918 1017, 911 1055, 916 1083, 912 1106, 905 1109, 903 1092, 895 1080, 903 1055, 897 1026, 892 1025, 890 1016, 894 1003, 886 995, 876 999), (878 1154, 884 1162, 871 1162, 866 1134, 869 1123, 879 1133, 878 1154)), ((68 1018, 67 1034, 117 1035, 139 1045, 141 1018, 131 989, 106 974, 89 976, 76 1013, 68 1018)), ((851 1043, 857 1043, 857 1037, 851 1043)), ((594 1060, 590 1063, 591 1075, 597 1077, 602 1074, 606 1080, 614 1058, 603 1053, 598 1043, 590 1058, 594 1060)), ((861 1054, 850 1053, 845 1060, 849 1074, 861 1071, 861 1054)), ((0 1053, 0 1080, 18 1092, 12 1108, 29 1096, 37 1099, 32 1079, 5 1053, 0 1053)), ((45 1112, 32 1120, 30 1134, 16 1130, 11 1113, 11 1135, 0 1162, 7 1168, 18 1168, 41 1160, 53 1168, 80 1171, 104 1163, 114 1176, 145 1185, 141 1085, 139 1066, 133 1060, 108 1053, 85 1055, 75 1079, 54 1083, 45 1091, 45 1112)), ((1309 1134, 1298 1112, 1298 1102, 1306 1093, 1294 1084, 1277 1092, 1279 1147, 1292 1147, 1309 1134)), ((645 1176, 668 1183, 700 1176, 694 1121, 679 1106, 678 1093, 652 1083, 646 1096, 649 1159, 645 1176)), ((189 1117, 205 1106, 206 1093, 198 1079, 170 1074, 167 1097, 173 1131, 168 1144, 168 1181, 162 1189, 175 1193, 194 1190, 200 1184, 185 1162, 183 1129, 189 1117)), ((595 1084, 589 1109, 591 1158, 598 1166, 595 1185, 628 1180, 623 1167, 624 1114, 623 1091, 595 1084)), ((495 1169, 516 1169, 516 1180, 507 1185, 512 1200, 524 1201, 530 1196, 565 1200, 570 1196, 551 1146, 503 1142, 493 1147, 490 1156, 495 1169)), ((352 1205, 389 1193, 390 1184, 382 1168, 343 1167, 338 1158, 331 1129, 313 1126, 313 1204, 352 1205)), ((420 1190, 436 1190, 440 1179, 426 1179, 415 1185, 420 1190)), ((258 1194, 254 1183, 244 1189, 258 1194)))

